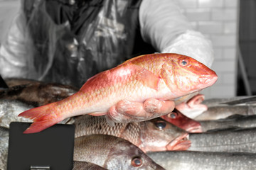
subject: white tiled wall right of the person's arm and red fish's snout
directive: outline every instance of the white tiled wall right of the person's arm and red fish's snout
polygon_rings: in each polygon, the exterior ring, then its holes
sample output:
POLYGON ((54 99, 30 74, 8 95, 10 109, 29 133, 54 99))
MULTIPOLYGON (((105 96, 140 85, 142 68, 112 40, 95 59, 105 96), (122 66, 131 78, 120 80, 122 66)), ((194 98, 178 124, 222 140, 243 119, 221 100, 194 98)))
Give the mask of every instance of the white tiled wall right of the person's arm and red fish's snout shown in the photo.
POLYGON ((202 93, 206 98, 235 96, 239 0, 177 1, 193 28, 213 43, 212 69, 218 74, 218 81, 202 93))

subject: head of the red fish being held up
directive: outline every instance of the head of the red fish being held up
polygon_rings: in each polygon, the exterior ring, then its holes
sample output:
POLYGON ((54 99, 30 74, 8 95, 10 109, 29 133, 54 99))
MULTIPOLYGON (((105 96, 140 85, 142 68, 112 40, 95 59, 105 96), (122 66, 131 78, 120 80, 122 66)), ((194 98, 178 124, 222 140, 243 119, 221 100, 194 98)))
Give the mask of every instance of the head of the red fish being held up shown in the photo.
POLYGON ((212 69, 185 55, 169 57, 169 60, 162 65, 161 77, 176 96, 205 89, 218 79, 212 69))

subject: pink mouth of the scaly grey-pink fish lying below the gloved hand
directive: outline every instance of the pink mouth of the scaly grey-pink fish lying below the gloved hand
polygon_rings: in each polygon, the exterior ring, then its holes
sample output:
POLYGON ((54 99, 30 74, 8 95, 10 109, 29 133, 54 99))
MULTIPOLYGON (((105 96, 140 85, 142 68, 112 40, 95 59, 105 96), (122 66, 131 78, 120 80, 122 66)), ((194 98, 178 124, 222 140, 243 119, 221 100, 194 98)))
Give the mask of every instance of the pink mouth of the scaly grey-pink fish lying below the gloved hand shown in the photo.
POLYGON ((191 141, 188 140, 188 133, 176 137, 166 145, 166 150, 187 150, 191 147, 191 141))

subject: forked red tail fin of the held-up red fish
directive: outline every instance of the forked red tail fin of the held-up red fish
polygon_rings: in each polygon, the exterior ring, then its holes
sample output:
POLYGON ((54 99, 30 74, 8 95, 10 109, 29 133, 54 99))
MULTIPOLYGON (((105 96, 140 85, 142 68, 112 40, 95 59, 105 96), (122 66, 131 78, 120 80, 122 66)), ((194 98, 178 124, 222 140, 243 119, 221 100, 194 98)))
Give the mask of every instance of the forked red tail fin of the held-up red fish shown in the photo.
POLYGON ((23 133, 41 132, 63 120, 51 108, 53 108, 53 103, 38 108, 31 108, 28 111, 20 113, 18 116, 33 120, 33 123, 23 133))

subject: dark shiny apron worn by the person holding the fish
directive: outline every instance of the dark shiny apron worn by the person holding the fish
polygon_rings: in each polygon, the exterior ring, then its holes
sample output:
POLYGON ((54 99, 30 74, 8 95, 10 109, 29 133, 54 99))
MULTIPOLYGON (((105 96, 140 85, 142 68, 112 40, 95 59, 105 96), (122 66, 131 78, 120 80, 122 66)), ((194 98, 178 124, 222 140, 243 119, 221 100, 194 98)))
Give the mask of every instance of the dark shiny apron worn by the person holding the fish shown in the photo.
POLYGON ((155 52, 139 30, 141 0, 24 0, 33 40, 30 79, 80 87, 137 55, 155 52))

